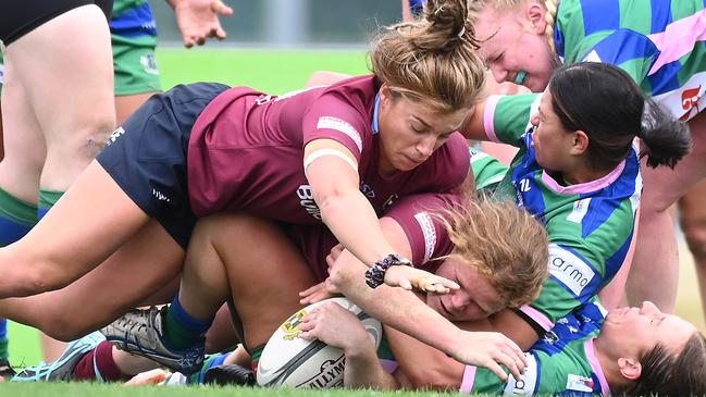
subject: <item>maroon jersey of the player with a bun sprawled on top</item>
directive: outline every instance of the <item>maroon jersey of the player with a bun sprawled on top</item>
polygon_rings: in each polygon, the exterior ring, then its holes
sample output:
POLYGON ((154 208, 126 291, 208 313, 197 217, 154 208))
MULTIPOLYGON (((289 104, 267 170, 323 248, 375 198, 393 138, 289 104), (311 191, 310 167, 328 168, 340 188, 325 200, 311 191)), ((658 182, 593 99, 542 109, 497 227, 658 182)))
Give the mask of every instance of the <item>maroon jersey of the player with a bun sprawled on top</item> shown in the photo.
POLYGON ((470 166, 459 133, 417 169, 380 176, 372 131, 377 89, 373 76, 361 76, 281 97, 243 87, 218 96, 189 139, 195 214, 245 211, 287 223, 321 222, 304 173, 304 147, 319 138, 336 140, 356 156, 360 189, 377 213, 398 197, 458 186, 470 166))

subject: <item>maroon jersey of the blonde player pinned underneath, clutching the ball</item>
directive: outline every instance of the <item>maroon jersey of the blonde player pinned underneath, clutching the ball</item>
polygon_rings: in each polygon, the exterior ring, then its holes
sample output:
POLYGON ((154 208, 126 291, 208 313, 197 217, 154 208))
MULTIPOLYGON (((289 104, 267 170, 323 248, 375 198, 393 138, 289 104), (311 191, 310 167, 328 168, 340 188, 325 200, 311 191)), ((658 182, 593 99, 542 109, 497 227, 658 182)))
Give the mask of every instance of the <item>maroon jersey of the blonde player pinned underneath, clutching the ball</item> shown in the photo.
MULTIPOLYGON (((451 194, 421 194, 401 198, 384 214, 397 221, 405 231, 411 248, 414 268, 434 273, 441 264, 436 258, 446 256, 454 244, 435 215, 458 203, 451 194)), ((338 244, 336 237, 325 225, 296 225, 287 228, 287 234, 301 251, 319 282, 329 276, 326 256, 338 244)))

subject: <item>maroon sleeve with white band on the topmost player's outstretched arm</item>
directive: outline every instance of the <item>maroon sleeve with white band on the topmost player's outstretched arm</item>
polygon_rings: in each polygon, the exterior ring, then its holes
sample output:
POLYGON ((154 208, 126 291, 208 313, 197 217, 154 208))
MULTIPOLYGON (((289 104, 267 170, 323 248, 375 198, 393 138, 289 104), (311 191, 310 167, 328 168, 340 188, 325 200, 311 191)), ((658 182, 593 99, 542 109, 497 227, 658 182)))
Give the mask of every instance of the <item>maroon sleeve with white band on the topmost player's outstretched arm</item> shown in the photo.
POLYGON ((304 146, 315 139, 332 139, 350 150, 360 162, 369 123, 367 113, 340 92, 324 92, 304 115, 304 146))

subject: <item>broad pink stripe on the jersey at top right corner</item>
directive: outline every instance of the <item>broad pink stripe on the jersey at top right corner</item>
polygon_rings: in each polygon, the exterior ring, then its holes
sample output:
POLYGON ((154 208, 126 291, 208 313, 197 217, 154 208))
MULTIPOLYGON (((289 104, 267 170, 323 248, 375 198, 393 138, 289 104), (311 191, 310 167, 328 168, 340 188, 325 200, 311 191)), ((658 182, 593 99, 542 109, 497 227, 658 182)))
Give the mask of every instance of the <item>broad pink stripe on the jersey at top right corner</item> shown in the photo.
POLYGON ((660 51, 649 70, 648 75, 653 75, 661 66, 691 52, 696 41, 706 40, 706 10, 674 21, 667 25, 665 32, 648 35, 647 38, 660 51))

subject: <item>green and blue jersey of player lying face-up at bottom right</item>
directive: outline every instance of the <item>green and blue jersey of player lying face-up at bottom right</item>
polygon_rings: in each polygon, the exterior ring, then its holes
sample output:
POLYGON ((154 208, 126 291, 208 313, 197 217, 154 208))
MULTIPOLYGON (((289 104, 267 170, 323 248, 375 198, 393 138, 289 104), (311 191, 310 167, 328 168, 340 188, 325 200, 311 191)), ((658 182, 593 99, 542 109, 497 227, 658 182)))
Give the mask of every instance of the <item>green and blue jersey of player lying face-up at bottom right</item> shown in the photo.
POLYGON ((520 380, 509 375, 508 382, 504 382, 487 369, 469 365, 460 390, 490 395, 608 396, 608 382, 593 346, 604 317, 599 305, 583 306, 559 319, 525 352, 529 365, 520 380))

